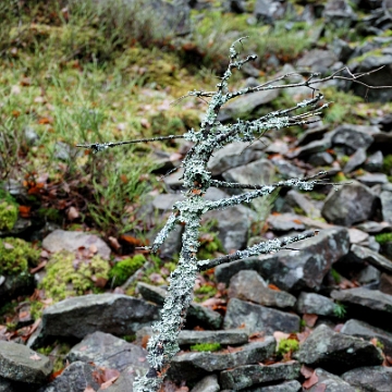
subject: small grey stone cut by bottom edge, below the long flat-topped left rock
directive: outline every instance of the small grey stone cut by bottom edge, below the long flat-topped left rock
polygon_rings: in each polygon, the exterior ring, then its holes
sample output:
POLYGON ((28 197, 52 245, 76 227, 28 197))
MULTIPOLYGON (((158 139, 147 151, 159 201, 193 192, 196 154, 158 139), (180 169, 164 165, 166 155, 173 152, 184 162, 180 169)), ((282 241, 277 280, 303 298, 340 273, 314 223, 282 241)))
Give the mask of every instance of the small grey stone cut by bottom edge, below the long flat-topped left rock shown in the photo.
POLYGON ((84 392, 88 387, 97 391, 100 385, 97 380, 99 373, 100 369, 96 366, 78 360, 69 365, 60 376, 38 392, 84 392))

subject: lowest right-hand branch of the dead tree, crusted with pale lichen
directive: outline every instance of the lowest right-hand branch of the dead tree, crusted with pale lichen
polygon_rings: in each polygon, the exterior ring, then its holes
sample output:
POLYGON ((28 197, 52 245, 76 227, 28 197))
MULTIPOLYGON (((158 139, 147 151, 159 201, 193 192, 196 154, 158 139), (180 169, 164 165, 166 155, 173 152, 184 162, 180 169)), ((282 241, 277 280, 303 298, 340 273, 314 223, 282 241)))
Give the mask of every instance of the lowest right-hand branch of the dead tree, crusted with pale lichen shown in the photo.
POLYGON ((197 262, 197 267, 198 267, 199 271, 205 271, 205 270, 208 270, 210 268, 217 267, 217 266, 225 264, 225 262, 236 261, 236 260, 241 260, 241 259, 248 258, 252 256, 268 255, 271 253, 277 253, 278 250, 281 250, 282 248, 284 248, 285 246, 287 246, 292 243, 303 241, 305 238, 311 238, 311 237, 318 235, 318 233, 319 233, 319 231, 315 230, 315 231, 298 234, 295 236, 284 237, 282 241, 277 238, 277 240, 269 240, 269 241, 260 242, 254 246, 249 246, 248 248, 246 248, 244 250, 237 250, 237 252, 233 253, 232 255, 217 257, 217 258, 210 259, 210 260, 200 260, 197 262))

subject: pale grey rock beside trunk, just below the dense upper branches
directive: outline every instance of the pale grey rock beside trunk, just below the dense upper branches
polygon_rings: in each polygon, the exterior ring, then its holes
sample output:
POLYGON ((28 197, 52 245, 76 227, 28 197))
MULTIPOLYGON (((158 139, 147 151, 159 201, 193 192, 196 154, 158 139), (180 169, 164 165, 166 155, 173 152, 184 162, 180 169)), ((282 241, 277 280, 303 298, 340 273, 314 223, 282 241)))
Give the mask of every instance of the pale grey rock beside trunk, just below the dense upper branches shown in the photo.
POLYGON ((212 175, 219 175, 229 169, 247 164, 262 156, 262 143, 235 142, 216 151, 208 161, 208 170, 212 175))

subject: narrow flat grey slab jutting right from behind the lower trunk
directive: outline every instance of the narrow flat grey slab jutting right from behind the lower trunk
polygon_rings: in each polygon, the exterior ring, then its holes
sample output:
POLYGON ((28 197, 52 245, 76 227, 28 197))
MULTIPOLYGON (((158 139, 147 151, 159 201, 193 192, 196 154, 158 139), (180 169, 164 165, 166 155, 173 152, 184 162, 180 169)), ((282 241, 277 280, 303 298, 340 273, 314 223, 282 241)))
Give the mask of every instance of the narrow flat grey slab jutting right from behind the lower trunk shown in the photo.
POLYGON ((248 342, 248 334, 242 329, 225 331, 189 331, 182 330, 177 342, 179 345, 198 343, 220 343, 220 344, 244 344, 248 342))

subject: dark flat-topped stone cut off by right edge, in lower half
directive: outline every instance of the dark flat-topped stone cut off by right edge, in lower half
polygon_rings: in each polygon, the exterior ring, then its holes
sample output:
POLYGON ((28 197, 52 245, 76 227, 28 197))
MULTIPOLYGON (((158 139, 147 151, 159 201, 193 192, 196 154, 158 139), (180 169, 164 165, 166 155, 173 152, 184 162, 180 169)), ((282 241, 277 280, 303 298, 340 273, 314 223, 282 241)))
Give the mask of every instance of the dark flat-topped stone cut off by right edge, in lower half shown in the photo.
POLYGON ((392 314, 392 295, 365 287, 333 291, 331 297, 350 305, 350 314, 371 319, 373 323, 384 324, 392 314))

